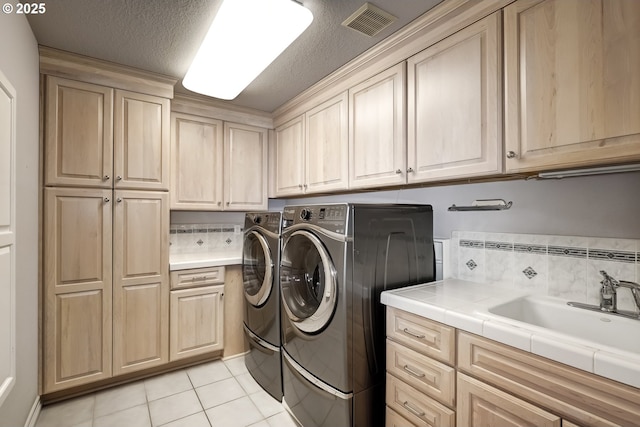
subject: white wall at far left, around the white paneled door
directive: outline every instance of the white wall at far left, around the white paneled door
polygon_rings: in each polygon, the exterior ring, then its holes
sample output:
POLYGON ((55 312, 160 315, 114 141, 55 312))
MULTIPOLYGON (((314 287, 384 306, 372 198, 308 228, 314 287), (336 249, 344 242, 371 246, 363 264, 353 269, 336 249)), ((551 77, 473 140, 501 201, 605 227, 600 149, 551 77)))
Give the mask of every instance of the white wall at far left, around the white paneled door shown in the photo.
POLYGON ((38 395, 38 46, 24 15, 0 13, 0 70, 16 90, 16 384, 0 425, 22 426, 38 395))

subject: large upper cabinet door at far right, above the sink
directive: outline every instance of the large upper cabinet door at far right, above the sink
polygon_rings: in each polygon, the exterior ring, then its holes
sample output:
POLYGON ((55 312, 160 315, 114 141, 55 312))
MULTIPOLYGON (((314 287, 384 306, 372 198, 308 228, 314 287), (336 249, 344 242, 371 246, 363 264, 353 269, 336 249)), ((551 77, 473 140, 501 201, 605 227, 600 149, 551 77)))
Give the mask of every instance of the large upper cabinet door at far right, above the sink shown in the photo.
POLYGON ((640 2, 504 9, 506 169, 640 159, 640 2))

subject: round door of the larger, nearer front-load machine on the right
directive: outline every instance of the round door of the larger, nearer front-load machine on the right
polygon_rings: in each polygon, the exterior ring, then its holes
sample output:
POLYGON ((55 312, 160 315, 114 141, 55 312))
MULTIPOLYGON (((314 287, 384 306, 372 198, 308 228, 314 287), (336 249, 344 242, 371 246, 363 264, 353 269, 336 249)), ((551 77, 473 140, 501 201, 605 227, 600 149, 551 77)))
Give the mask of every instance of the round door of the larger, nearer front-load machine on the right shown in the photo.
POLYGON ((322 331, 336 307, 336 270, 313 233, 298 230, 285 241, 280 287, 283 307, 293 325, 308 334, 322 331))

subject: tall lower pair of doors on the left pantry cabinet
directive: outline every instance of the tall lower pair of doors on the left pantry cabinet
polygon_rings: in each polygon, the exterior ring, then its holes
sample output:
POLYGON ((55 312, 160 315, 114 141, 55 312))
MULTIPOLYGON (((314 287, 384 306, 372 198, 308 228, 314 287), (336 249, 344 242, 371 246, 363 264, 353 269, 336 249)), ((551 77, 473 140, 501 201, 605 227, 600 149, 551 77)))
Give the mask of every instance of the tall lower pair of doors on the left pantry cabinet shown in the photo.
POLYGON ((44 198, 44 394, 168 362, 167 193, 44 198))

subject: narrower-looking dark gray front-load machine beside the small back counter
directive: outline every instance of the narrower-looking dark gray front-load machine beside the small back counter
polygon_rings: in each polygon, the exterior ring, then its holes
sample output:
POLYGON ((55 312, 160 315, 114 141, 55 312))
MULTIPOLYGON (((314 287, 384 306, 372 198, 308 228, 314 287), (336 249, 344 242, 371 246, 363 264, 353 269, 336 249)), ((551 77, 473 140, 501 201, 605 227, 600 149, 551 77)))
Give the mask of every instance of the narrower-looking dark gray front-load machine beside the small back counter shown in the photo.
POLYGON ((282 401, 280 359, 280 212, 247 213, 244 222, 242 279, 245 364, 253 378, 282 401))

